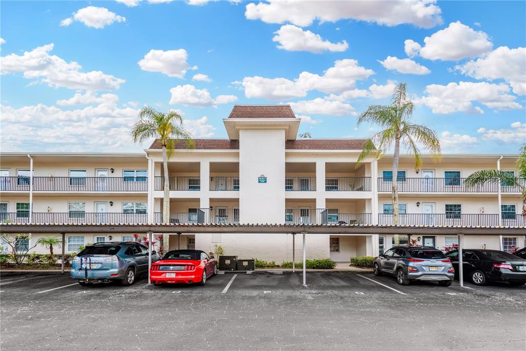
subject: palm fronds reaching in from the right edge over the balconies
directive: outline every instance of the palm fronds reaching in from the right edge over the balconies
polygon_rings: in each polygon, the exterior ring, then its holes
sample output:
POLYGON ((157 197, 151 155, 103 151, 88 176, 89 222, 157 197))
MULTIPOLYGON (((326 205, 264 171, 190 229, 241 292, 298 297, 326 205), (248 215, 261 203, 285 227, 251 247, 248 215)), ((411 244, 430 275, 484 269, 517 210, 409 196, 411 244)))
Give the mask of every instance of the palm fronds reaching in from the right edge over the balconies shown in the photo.
POLYGON ((526 216, 526 144, 522 144, 519 149, 519 158, 515 161, 517 173, 512 174, 507 171, 498 171, 497 169, 482 169, 472 173, 464 180, 467 186, 475 186, 478 184, 497 183, 500 186, 502 183, 508 186, 516 186, 522 192, 522 215, 526 216))

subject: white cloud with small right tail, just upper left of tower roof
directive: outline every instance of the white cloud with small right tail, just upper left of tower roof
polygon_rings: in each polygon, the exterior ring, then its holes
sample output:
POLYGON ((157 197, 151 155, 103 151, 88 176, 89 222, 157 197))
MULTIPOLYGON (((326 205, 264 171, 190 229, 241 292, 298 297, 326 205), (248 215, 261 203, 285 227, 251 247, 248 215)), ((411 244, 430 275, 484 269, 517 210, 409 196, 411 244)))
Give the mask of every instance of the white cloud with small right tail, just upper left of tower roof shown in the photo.
POLYGON ((216 99, 210 96, 207 89, 197 89, 190 84, 178 85, 170 89, 170 105, 181 104, 208 107, 217 104, 228 104, 237 100, 234 95, 218 95, 216 99))

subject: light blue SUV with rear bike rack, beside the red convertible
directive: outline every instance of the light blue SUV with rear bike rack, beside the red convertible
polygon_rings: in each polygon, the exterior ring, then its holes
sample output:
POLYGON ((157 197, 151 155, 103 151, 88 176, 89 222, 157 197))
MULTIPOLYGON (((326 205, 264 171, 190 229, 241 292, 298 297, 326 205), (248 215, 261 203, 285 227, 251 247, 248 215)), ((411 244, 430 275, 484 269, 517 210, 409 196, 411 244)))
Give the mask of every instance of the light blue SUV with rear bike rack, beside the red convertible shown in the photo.
MULTIPOLYGON (((151 262, 159 259, 152 251, 151 262)), ((111 281, 128 286, 137 276, 148 274, 148 248, 133 242, 88 245, 73 258, 69 274, 82 286, 111 281)))

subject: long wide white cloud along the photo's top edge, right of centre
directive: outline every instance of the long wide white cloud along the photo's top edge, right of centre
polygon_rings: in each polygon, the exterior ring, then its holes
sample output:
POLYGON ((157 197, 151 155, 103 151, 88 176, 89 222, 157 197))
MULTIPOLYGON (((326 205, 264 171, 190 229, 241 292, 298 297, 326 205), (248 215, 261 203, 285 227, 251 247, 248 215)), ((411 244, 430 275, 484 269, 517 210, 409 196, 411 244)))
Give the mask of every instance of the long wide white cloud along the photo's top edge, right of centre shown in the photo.
POLYGON ((336 22, 339 19, 376 22, 395 26, 409 23, 430 28, 442 23, 440 7, 434 1, 272 1, 248 4, 245 16, 266 23, 290 22, 300 27, 313 21, 336 22))

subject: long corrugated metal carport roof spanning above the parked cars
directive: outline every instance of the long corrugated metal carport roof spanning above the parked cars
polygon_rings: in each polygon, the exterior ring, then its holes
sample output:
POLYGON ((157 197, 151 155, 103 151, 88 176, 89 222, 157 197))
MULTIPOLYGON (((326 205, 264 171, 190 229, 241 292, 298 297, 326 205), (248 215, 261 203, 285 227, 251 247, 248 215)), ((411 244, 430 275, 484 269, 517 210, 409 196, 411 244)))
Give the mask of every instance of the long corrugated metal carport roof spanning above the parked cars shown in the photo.
POLYGON ((0 232, 13 233, 225 233, 225 234, 454 234, 526 235, 526 227, 408 226, 361 224, 60 224, 1 223, 0 232))

